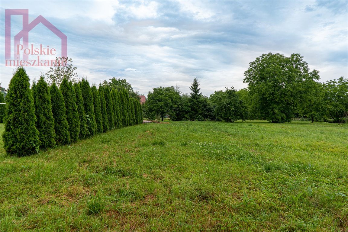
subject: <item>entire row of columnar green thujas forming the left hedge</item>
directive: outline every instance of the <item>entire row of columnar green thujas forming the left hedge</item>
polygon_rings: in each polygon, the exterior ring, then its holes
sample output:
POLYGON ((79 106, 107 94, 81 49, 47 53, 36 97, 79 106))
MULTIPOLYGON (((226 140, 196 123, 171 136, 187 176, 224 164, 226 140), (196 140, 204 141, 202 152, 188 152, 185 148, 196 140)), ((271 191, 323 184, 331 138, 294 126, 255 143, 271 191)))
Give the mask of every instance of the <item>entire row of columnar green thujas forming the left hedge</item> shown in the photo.
POLYGON ((63 79, 60 88, 43 77, 30 89, 23 67, 13 75, 6 96, 2 135, 10 155, 30 155, 55 145, 67 145, 113 128, 142 123, 141 104, 127 90, 74 85, 63 79))

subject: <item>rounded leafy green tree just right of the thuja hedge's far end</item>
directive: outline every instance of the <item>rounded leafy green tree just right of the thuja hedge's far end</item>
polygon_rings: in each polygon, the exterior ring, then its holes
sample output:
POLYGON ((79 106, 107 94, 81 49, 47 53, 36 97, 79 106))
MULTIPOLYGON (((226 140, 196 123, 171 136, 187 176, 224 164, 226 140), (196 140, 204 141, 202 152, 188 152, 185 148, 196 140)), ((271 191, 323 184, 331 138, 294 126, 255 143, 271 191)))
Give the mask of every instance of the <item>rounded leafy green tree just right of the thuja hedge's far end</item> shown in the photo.
POLYGON ((164 116, 173 114, 174 109, 180 103, 180 94, 174 86, 153 88, 148 93, 146 109, 148 114, 160 115, 163 121, 164 116))

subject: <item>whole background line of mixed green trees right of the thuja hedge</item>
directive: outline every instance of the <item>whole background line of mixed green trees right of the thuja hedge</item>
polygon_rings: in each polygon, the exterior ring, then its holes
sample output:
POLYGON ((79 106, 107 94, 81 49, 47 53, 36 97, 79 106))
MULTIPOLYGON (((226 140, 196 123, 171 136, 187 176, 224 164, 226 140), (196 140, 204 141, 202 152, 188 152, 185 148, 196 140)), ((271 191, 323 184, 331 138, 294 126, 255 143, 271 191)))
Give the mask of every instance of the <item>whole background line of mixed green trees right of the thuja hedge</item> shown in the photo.
POLYGON ((197 78, 189 95, 174 86, 153 88, 143 105, 144 115, 161 120, 168 116, 172 120, 225 122, 261 119, 284 123, 293 118, 347 121, 348 79, 319 82, 319 71, 309 71, 300 54, 263 54, 250 63, 244 77, 247 88, 226 88, 210 96, 200 93, 197 78))

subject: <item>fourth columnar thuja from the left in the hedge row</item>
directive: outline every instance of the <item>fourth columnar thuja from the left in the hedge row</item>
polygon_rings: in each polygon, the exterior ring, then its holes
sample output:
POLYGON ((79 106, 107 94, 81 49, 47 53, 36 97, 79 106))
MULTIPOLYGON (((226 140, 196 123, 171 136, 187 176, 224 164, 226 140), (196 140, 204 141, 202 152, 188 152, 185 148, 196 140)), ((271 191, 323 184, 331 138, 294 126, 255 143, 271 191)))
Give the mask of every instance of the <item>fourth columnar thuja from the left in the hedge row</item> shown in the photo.
POLYGON ((76 94, 72 82, 68 82, 66 78, 63 79, 60 90, 63 94, 65 103, 65 114, 69 125, 70 141, 73 143, 79 139, 80 133, 80 119, 76 105, 76 94))

